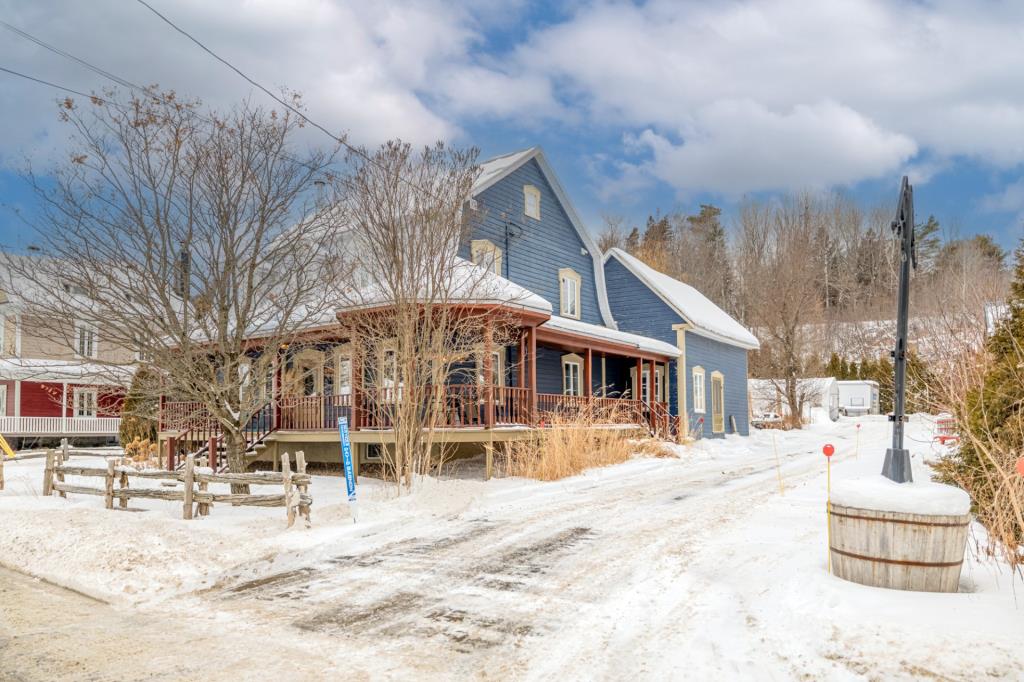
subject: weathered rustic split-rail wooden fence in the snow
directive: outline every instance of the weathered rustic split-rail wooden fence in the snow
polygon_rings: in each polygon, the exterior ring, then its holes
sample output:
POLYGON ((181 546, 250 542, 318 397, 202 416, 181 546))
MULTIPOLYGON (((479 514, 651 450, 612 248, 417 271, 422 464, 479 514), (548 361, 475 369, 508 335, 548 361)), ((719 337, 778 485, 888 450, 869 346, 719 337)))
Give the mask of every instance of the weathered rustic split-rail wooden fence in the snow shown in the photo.
POLYGON ((60 497, 72 495, 95 495, 103 498, 108 509, 114 509, 114 501, 118 501, 120 509, 128 508, 131 498, 165 500, 181 503, 181 517, 191 519, 195 516, 207 516, 210 509, 217 503, 243 507, 285 507, 288 514, 288 527, 295 523, 296 514, 305 520, 306 527, 310 525, 310 507, 313 499, 309 495, 309 484, 312 482, 306 473, 306 460, 302 452, 295 454, 295 468, 288 453, 281 456, 280 472, 258 471, 253 473, 216 473, 212 469, 196 466, 196 456, 185 459, 181 471, 164 469, 138 470, 126 466, 121 458, 106 460, 103 468, 73 466, 67 464, 67 458, 55 451, 47 451, 46 468, 43 471, 43 495, 48 497, 57 493, 60 497), (65 482, 66 476, 83 476, 103 479, 103 487, 87 485, 72 485, 65 482), (179 488, 132 487, 132 479, 171 481, 179 488), (115 486, 115 483, 117 485, 115 486), (276 485, 282 493, 274 495, 246 495, 236 493, 211 493, 211 483, 276 485), (195 510, 194 510, 195 506, 195 510))

